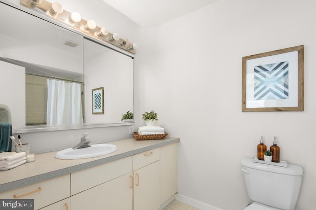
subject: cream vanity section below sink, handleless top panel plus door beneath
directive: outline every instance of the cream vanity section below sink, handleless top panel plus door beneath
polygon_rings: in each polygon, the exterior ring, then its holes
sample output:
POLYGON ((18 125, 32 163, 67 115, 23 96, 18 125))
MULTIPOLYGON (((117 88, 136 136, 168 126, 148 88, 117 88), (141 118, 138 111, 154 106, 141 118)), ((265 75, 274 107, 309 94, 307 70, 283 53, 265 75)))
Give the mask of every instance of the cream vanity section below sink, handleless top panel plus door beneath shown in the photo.
POLYGON ((72 210, 131 210, 132 156, 71 174, 72 210))

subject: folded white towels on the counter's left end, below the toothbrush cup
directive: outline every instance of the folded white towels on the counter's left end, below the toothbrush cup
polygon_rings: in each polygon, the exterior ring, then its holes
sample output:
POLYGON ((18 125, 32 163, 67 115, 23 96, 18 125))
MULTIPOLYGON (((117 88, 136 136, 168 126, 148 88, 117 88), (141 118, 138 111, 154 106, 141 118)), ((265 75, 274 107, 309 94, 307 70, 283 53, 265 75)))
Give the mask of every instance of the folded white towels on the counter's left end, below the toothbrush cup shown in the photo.
POLYGON ((25 152, 2 152, 0 153, 0 170, 13 169, 26 163, 25 152))

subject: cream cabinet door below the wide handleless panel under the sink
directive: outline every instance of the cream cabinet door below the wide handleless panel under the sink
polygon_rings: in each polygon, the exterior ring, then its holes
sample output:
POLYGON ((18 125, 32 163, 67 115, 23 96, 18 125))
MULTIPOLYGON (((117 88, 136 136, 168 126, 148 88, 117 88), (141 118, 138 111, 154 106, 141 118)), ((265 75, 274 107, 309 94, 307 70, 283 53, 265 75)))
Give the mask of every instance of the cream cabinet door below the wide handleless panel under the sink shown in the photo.
POLYGON ((132 210, 132 173, 122 175, 71 197, 72 210, 132 210))

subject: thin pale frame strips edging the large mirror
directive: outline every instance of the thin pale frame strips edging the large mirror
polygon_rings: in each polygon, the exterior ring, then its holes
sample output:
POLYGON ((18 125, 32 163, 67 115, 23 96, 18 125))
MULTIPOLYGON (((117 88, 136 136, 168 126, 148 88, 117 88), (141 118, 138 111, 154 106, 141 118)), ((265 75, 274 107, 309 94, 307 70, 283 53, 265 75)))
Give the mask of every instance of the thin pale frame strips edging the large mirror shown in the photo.
MULTIPOLYGON (((111 50, 117 51, 123 55, 126 55, 128 57, 130 57, 131 59, 135 58, 135 55, 133 55, 132 53, 129 53, 127 51, 124 51, 116 46, 113 46, 111 44, 108 44, 106 42, 102 42, 100 40, 98 40, 97 38, 94 38, 92 36, 86 35, 84 33, 81 33, 79 31, 76 31, 74 29, 72 29, 71 27, 64 25, 52 18, 49 18, 48 16, 45 16, 43 14, 40 14, 34 10, 31 10, 27 7, 24 7, 22 5, 18 5, 15 4, 11 1, 8 0, 1 0, 0 3, 4 3, 8 6, 11 6, 15 9, 21 10, 25 13, 28 13, 29 15, 33 15, 37 18, 40 18, 42 20, 45 20, 47 22, 50 22, 52 24, 55 24, 56 26, 62 27, 66 30, 69 30, 73 33, 82 35, 83 37, 85 37, 88 40, 97 42, 100 45, 103 45, 104 47, 110 48, 111 50)), ((133 62, 134 63, 134 62, 133 62)), ((134 65, 133 65, 133 69, 134 69, 134 65)), ((134 98, 134 94, 133 94, 133 98, 134 98)), ((133 100, 133 106, 134 106, 134 100, 133 100)), ((114 126, 128 126, 128 125, 134 125, 134 121, 131 122, 120 122, 120 123, 91 123, 91 124, 82 124, 82 125, 69 125, 69 126, 30 126, 30 127, 24 127, 21 129, 14 129, 12 130, 12 134, 21 134, 21 133, 34 133, 34 132, 46 132, 46 131, 62 131, 62 130, 73 130, 73 129, 85 129, 85 128, 102 128, 102 127, 114 127, 114 126)))

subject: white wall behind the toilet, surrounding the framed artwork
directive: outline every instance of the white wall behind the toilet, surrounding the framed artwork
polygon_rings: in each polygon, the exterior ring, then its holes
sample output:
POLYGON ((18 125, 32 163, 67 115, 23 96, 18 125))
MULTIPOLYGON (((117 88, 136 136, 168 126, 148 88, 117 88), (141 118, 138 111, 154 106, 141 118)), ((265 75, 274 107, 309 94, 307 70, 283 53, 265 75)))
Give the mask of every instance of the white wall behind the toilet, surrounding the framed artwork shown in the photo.
POLYGON ((296 210, 316 209, 315 7, 314 0, 219 0, 139 28, 135 127, 154 109, 166 132, 181 138, 180 196, 201 209, 243 210, 250 200, 241 159, 256 156, 261 135, 268 146, 276 136, 281 159, 304 169, 296 210), (305 111, 241 112, 241 58, 301 44, 305 111))

